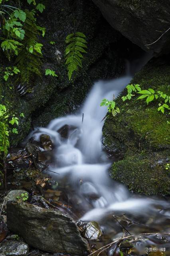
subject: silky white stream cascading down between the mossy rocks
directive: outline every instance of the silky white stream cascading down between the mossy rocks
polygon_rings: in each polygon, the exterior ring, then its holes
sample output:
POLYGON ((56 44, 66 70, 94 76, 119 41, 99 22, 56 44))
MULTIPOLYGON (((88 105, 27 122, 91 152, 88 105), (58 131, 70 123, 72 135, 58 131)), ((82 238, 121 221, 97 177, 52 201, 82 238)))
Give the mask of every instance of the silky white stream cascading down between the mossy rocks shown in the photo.
MULTIPOLYGON (((41 134, 50 136, 55 148, 46 172, 67 194, 63 203, 72 206, 67 209, 68 214, 76 221, 99 223, 103 236, 98 248, 131 234, 134 235, 131 240, 137 239, 134 246, 141 246, 142 250, 166 248, 167 253, 170 250, 168 199, 134 194, 112 180, 109 177, 111 160, 102 149, 102 120, 107 107, 100 107, 100 103, 103 98, 113 100, 113 95, 117 97, 130 80, 130 76, 125 76, 96 82, 77 113, 52 120, 47 128, 38 128, 30 137, 39 140, 41 134), (59 132, 63 127, 67 127, 64 137, 59 132), (139 236, 141 233, 147 234, 139 236)), ((108 250, 109 255, 119 255, 115 244, 108 250)))

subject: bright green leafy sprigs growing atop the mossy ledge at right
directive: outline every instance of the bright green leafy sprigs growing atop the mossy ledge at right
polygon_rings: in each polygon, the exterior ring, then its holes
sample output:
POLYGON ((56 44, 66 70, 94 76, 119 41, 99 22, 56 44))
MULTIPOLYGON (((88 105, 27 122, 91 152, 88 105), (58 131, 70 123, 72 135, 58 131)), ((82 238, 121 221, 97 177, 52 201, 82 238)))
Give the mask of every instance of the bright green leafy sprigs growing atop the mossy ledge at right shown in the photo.
POLYGON ((153 100, 160 100, 160 103, 158 103, 158 111, 161 111, 164 114, 165 109, 170 110, 170 106, 167 103, 170 103, 170 96, 164 94, 161 91, 155 92, 152 88, 148 88, 148 90, 141 90, 139 84, 128 84, 127 85, 127 96, 122 96, 122 100, 130 100, 132 96, 135 94, 132 94, 132 92, 136 92, 138 94, 142 94, 137 98, 137 100, 142 100, 146 98, 146 103, 149 104, 149 102, 152 102, 153 100), (162 100, 164 100, 164 104, 162 104, 162 100))

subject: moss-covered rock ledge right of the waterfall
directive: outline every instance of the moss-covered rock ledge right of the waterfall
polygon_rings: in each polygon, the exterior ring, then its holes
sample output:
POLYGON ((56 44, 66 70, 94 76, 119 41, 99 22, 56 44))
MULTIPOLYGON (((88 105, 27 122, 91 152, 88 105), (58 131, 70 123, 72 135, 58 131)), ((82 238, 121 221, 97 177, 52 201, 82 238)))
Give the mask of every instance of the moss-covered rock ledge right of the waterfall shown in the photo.
MULTIPOLYGON (((168 56, 152 59, 132 79, 142 90, 153 88, 170 95, 170 66, 168 56)), ((122 160, 114 162, 110 174, 134 192, 148 195, 170 194, 170 174, 165 169, 170 156, 170 120, 158 112, 158 103, 146 104, 134 96, 125 102, 116 99, 121 112, 108 114, 103 127, 103 144, 122 160)))

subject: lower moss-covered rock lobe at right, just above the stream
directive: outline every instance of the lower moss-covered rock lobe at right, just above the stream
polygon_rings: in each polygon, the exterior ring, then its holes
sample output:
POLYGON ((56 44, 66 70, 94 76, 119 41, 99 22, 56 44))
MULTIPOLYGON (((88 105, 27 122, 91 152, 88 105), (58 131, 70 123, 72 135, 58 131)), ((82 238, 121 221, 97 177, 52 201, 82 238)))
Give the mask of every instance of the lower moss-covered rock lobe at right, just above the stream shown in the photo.
POLYGON ((130 190, 148 195, 169 194, 170 178, 164 165, 168 162, 169 151, 152 154, 128 152, 125 159, 115 162, 111 177, 126 184, 130 190))

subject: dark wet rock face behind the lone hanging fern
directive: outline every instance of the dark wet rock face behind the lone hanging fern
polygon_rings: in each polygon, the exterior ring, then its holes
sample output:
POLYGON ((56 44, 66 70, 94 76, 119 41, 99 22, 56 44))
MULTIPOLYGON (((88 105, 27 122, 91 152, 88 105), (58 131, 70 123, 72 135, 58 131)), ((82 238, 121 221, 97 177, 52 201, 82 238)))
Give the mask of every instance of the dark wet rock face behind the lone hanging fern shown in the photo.
POLYGON ((125 40, 127 45, 127 40, 109 26, 91 0, 46 2, 46 9, 38 18, 38 24, 46 28, 42 39, 42 78, 32 81, 28 93, 22 97, 13 80, 8 80, 7 84, 2 77, 0 80, 0 95, 4 95, 2 103, 17 116, 25 115, 20 120, 19 136, 12 138, 13 145, 24 139, 32 125, 46 126, 53 118, 74 112, 95 80, 120 76, 125 66, 120 52, 121 43, 125 40), (83 69, 69 82, 64 56, 65 38, 74 27, 87 36, 88 53, 83 60, 83 69), (50 41, 55 44, 49 44, 50 41), (58 78, 45 76, 47 68, 55 70, 58 78), (11 84, 12 90, 9 90, 11 84))

